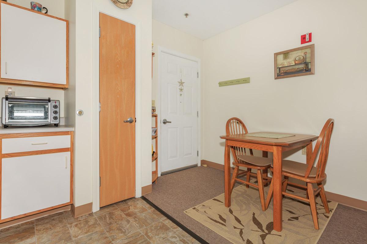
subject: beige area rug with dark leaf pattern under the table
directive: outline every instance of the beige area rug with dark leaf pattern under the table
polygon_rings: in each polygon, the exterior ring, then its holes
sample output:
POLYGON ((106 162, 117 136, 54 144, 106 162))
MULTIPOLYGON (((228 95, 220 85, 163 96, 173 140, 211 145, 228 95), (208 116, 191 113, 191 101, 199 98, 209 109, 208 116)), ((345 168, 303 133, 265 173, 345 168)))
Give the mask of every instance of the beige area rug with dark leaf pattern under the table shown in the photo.
MULTIPOLYGON (((265 198, 269 187, 265 188, 265 198)), ((306 194, 292 194, 305 197, 306 194)), ((240 185, 233 189, 231 207, 224 206, 224 194, 185 211, 187 215, 234 244, 315 244, 323 233, 338 203, 328 201, 330 214, 325 213, 319 195, 316 207, 320 230, 315 230, 310 205, 283 197, 283 230, 273 230, 273 203, 261 210, 259 192, 240 185)))

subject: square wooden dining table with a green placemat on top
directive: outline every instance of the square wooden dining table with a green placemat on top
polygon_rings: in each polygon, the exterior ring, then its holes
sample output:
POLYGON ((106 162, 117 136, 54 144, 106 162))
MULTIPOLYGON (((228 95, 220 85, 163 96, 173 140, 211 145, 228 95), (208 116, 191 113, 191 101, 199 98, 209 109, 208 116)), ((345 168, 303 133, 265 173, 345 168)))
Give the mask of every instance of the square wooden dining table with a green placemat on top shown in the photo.
POLYGON ((306 146, 306 162, 311 163, 312 141, 317 140, 318 136, 303 135, 294 133, 279 132, 251 132, 246 134, 224 135, 220 136, 225 139, 224 150, 224 181, 225 181, 225 206, 230 207, 230 147, 245 147, 263 151, 263 157, 268 157, 268 152, 273 153, 273 229, 282 230, 282 153, 296 148, 306 146), (272 133, 272 134, 289 134, 292 136, 284 138, 265 138, 248 136, 249 134, 272 133))

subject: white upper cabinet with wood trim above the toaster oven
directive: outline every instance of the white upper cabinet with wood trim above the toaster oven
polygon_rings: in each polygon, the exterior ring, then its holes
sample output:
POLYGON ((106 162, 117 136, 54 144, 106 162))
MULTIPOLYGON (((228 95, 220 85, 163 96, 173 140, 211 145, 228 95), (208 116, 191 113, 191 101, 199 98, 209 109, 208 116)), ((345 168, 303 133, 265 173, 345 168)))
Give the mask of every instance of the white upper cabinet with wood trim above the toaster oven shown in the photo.
POLYGON ((0 83, 68 87, 68 21, 1 3, 0 83))

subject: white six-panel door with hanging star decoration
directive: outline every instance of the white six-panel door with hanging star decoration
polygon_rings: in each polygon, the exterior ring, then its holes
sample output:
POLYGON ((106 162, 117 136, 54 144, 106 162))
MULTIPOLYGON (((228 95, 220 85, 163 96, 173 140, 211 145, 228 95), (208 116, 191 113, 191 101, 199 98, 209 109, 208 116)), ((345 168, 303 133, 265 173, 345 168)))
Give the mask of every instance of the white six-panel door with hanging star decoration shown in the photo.
POLYGON ((160 126, 162 173, 198 162, 197 69, 195 61, 161 53, 160 118, 171 121, 160 126))

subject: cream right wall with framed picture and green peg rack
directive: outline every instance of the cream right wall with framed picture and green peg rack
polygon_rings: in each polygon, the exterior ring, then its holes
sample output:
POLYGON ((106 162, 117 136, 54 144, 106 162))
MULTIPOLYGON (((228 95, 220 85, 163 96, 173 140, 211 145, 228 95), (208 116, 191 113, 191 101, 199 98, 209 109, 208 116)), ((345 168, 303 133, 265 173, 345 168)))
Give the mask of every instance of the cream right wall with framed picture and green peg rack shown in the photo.
MULTIPOLYGON (((202 158, 223 164, 225 123, 239 117, 248 130, 319 135, 335 119, 327 191, 367 200, 366 1, 297 1, 204 41, 206 121, 202 158), (315 75, 274 79, 273 53, 297 48, 312 32, 315 75), (218 87, 251 77, 250 84, 218 87)), ((288 158, 305 162, 301 151, 288 158)), ((271 156, 271 155, 270 155, 271 156)))

